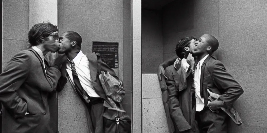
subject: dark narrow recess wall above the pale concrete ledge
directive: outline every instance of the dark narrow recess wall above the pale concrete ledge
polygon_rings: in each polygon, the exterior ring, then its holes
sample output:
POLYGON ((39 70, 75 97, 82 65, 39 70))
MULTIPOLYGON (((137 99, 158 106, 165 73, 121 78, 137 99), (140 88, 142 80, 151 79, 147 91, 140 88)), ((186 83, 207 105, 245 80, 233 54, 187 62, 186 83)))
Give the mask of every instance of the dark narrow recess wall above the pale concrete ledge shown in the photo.
POLYGON ((163 61, 161 11, 142 10, 142 72, 157 72, 163 61))

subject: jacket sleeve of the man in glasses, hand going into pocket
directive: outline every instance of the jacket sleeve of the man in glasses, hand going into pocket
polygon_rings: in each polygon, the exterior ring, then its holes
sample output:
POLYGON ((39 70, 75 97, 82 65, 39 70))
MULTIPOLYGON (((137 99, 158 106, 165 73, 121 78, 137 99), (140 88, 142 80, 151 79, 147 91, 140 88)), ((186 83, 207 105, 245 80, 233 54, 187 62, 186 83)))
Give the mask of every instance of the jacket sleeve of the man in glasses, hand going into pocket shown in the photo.
POLYGON ((17 90, 25 82, 31 68, 29 51, 17 53, 0 74, 0 101, 15 118, 25 116, 27 103, 17 94, 17 90))

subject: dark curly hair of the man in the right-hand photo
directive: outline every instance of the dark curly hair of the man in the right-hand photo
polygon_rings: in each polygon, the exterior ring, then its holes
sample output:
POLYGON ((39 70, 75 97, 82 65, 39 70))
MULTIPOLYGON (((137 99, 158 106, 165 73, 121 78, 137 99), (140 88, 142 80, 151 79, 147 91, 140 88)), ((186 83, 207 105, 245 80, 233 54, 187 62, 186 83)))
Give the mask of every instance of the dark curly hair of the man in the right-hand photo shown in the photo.
POLYGON ((183 39, 181 39, 181 40, 176 44, 175 52, 176 52, 176 55, 177 55, 179 58, 181 58, 181 59, 184 58, 184 54, 185 54, 185 53, 184 53, 184 52, 185 52, 184 47, 187 47, 187 45, 190 44, 190 41, 191 41, 192 39, 197 40, 196 38, 194 38, 193 36, 191 36, 191 37, 187 37, 187 38, 183 38, 183 39))

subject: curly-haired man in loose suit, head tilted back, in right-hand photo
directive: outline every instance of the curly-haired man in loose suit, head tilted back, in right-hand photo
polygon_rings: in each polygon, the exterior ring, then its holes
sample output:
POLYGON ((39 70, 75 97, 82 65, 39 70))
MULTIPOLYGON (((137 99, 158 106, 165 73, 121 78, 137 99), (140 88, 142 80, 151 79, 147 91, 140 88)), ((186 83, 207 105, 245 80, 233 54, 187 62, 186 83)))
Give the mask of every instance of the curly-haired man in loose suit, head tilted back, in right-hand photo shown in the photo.
POLYGON ((191 55, 194 48, 194 37, 181 39, 176 44, 177 60, 166 68, 166 85, 168 87, 168 105, 170 116, 174 123, 175 133, 198 133, 195 124, 195 88, 194 66, 195 61, 191 55))

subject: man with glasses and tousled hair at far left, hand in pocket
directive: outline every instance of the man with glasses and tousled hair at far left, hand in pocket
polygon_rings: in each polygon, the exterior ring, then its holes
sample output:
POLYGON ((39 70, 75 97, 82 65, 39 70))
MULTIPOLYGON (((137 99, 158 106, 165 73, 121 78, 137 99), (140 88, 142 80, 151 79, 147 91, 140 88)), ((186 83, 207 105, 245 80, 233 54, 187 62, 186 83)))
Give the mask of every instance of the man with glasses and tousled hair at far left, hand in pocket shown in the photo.
POLYGON ((3 104, 3 133, 50 133, 48 94, 56 89, 61 76, 52 53, 58 50, 57 26, 35 24, 29 31, 30 47, 11 58, 0 74, 0 101, 3 104))

